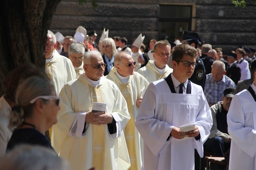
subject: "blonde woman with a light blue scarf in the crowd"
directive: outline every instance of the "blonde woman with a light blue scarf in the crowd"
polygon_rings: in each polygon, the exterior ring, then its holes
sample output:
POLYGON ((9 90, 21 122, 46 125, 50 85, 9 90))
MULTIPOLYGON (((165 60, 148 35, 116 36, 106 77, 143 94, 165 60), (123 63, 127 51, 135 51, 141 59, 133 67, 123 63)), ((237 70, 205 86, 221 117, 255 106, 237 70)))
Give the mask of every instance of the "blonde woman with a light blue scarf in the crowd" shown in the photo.
POLYGON ((100 52, 104 63, 107 64, 104 75, 108 75, 114 66, 114 56, 118 53, 114 40, 112 38, 105 38, 100 44, 100 52))

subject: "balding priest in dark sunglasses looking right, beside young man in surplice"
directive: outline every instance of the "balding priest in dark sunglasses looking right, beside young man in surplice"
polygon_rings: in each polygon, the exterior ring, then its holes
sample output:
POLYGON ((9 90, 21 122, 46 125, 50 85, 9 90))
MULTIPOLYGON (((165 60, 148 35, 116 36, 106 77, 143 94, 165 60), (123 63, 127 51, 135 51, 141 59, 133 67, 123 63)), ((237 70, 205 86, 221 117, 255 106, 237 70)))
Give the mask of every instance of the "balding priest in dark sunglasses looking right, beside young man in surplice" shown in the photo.
POLYGON ((143 160, 143 140, 134 126, 143 95, 149 83, 139 73, 134 72, 135 62, 131 55, 126 52, 118 53, 115 56, 113 69, 107 75, 123 94, 131 119, 127 123, 124 133, 125 140, 131 161, 131 170, 141 170, 143 160), (142 93, 142 94, 141 94, 142 93))

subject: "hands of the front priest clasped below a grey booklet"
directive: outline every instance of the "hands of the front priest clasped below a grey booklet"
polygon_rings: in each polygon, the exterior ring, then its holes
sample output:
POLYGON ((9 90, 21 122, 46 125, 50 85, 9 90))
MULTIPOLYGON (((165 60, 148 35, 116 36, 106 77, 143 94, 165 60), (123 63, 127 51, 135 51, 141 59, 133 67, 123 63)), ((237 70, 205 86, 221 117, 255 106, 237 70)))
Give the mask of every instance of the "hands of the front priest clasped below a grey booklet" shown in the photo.
POLYGON ((109 113, 99 111, 99 112, 86 112, 85 116, 86 123, 92 123, 95 125, 104 125, 113 122, 113 116, 109 113))

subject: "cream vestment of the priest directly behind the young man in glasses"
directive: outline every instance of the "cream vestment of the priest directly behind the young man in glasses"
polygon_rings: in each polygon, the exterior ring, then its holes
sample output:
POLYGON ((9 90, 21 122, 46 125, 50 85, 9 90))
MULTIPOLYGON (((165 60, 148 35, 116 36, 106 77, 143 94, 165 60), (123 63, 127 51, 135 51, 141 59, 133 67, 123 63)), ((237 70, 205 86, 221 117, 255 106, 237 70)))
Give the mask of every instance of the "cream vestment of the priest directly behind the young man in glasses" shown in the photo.
POLYGON ((163 74, 159 74, 156 69, 155 61, 149 60, 145 67, 142 67, 138 70, 138 73, 143 75, 146 80, 151 83, 156 80, 167 77, 170 73, 172 73, 173 69, 171 69, 168 65, 165 66, 165 70, 163 74))

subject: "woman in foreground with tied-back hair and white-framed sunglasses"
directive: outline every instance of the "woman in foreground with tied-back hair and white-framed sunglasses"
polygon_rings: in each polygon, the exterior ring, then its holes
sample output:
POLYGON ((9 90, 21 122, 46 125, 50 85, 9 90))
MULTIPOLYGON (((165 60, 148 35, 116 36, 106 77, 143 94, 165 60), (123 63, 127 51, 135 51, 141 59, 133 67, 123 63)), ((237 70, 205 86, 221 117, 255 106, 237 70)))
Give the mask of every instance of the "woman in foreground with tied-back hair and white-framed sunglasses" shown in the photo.
POLYGON ((37 144, 52 148, 44 136, 57 123, 59 98, 50 80, 30 77, 17 88, 10 128, 15 128, 6 151, 18 144, 37 144))

